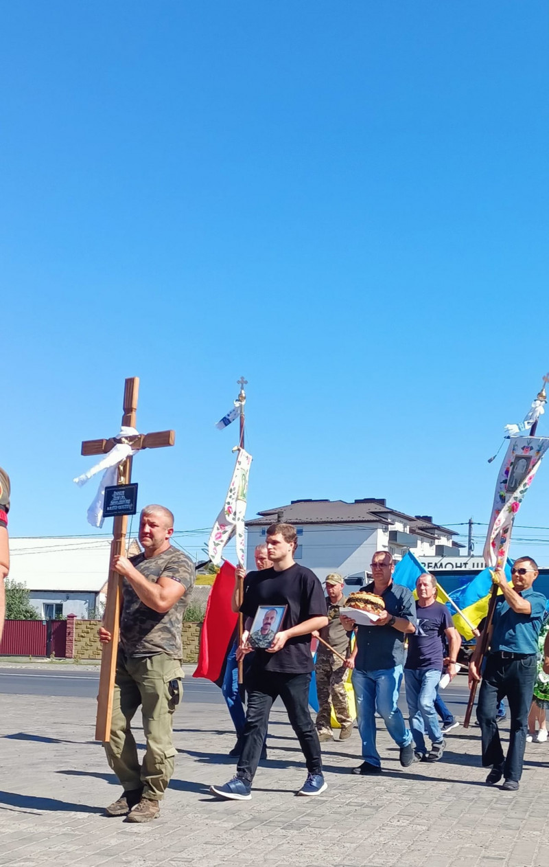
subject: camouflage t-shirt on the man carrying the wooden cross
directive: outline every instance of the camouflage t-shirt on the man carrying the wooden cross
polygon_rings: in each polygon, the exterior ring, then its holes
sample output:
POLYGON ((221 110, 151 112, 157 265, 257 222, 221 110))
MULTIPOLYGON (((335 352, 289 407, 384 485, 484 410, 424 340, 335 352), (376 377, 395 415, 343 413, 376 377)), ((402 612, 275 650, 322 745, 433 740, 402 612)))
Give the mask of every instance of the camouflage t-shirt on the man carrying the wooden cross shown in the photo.
POLYGON ((165 653, 181 659, 183 646, 181 626, 184 610, 189 604, 195 583, 195 569, 189 557, 171 546, 156 557, 137 554, 130 562, 148 581, 156 583, 168 577, 184 585, 184 595, 164 614, 142 603, 132 585, 124 578, 120 643, 128 656, 150 656, 165 653))

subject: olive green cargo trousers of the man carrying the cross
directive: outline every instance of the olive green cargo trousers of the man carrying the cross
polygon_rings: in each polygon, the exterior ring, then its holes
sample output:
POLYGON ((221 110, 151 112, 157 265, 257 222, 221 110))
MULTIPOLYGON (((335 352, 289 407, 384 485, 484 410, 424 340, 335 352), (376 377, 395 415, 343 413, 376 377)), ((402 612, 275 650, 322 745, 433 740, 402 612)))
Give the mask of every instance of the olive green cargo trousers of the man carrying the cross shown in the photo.
MULTIPOLYGON (((143 786, 143 798, 160 800, 173 773, 176 750, 171 738, 175 710, 170 681, 184 677, 181 662, 164 653, 132 657, 119 649, 114 680, 111 740, 107 761, 124 791, 143 786), (139 764, 130 723, 141 705, 146 750, 139 764)), ((179 694, 183 684, 179 681, 179 694)))

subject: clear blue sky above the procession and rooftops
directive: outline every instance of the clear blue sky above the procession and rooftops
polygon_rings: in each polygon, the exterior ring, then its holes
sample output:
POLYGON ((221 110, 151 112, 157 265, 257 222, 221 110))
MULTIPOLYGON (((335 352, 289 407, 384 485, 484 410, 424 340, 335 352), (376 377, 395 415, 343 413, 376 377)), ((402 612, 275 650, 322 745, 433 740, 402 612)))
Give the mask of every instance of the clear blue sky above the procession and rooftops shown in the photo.
MULTIPOLYGON (((80 441, 130 375, 139 430, 178 437, 136 459, 139 503, 179 529, 223 502, 242 374, 249 517, 488 521, 487 459, 549 370, 548 33, 538 0, 3 3, 11 532, 91 531, 80 441)), ((521 525, 548 493, 542 466, 521 525)))

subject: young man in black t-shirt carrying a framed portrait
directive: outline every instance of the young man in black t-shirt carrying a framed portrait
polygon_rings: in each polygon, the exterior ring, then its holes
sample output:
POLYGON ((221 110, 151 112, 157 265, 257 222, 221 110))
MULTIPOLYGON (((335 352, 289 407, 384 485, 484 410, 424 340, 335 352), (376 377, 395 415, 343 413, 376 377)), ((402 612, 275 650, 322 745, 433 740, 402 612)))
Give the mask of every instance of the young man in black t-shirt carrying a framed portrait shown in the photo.
POLYGON ((307 764, 307 780, 300 795, 318 795, 326 789, 322 775, 320 742, 309 713, 309 683, 313 671, 311 633, 328 623, 326 600, 319 579, 310 569, 294 563, 297 534, 292 525, 273 524, 267 531, 271 569, 249 572, 244 579, 241 606, 245 618, 242 644, 237 655, 252 652, 249 629, 260 605, 287 605, 282 629, 268 649, 253 651, 246 675, 248 691, 246 725, 236 777, 224 786, 210 786, 218 798, 247 800, 262 753, 268 715, 279 696, 287 709, 307 764))

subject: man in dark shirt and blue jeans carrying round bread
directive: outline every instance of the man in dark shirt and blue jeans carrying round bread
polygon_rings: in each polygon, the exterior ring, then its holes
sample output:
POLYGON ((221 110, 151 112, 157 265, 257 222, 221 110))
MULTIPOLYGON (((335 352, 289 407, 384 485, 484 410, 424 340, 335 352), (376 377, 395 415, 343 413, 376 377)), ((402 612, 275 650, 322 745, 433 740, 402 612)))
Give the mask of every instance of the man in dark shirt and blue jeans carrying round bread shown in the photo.
MULTIPOLYGON (((371 558, 373 581, 359 594, 373 594, 371 610, 378 619, 370 626, 358 624, 357 654, 352 672, 352 687, 357 703, 358 733, 362 740, 362 765, 352 773, 381 773, 381 759, 376 749, 376 707, 384 719, 391 738, 400 747, 400 764, 408 767, 414 761, 414 746, 410 729, 397 707, 403 679, 404 636, 416 631, 416 604, 410 590, 393 583, 395 566, 388 551, 376 551, 371 558)), ((367 610, 367 596, 363 596, 367 610)), ((351 603, 351 597, 347 604, 351 603)), ((345 629, 355 626, 352 617, 341 615, 345 629)))

